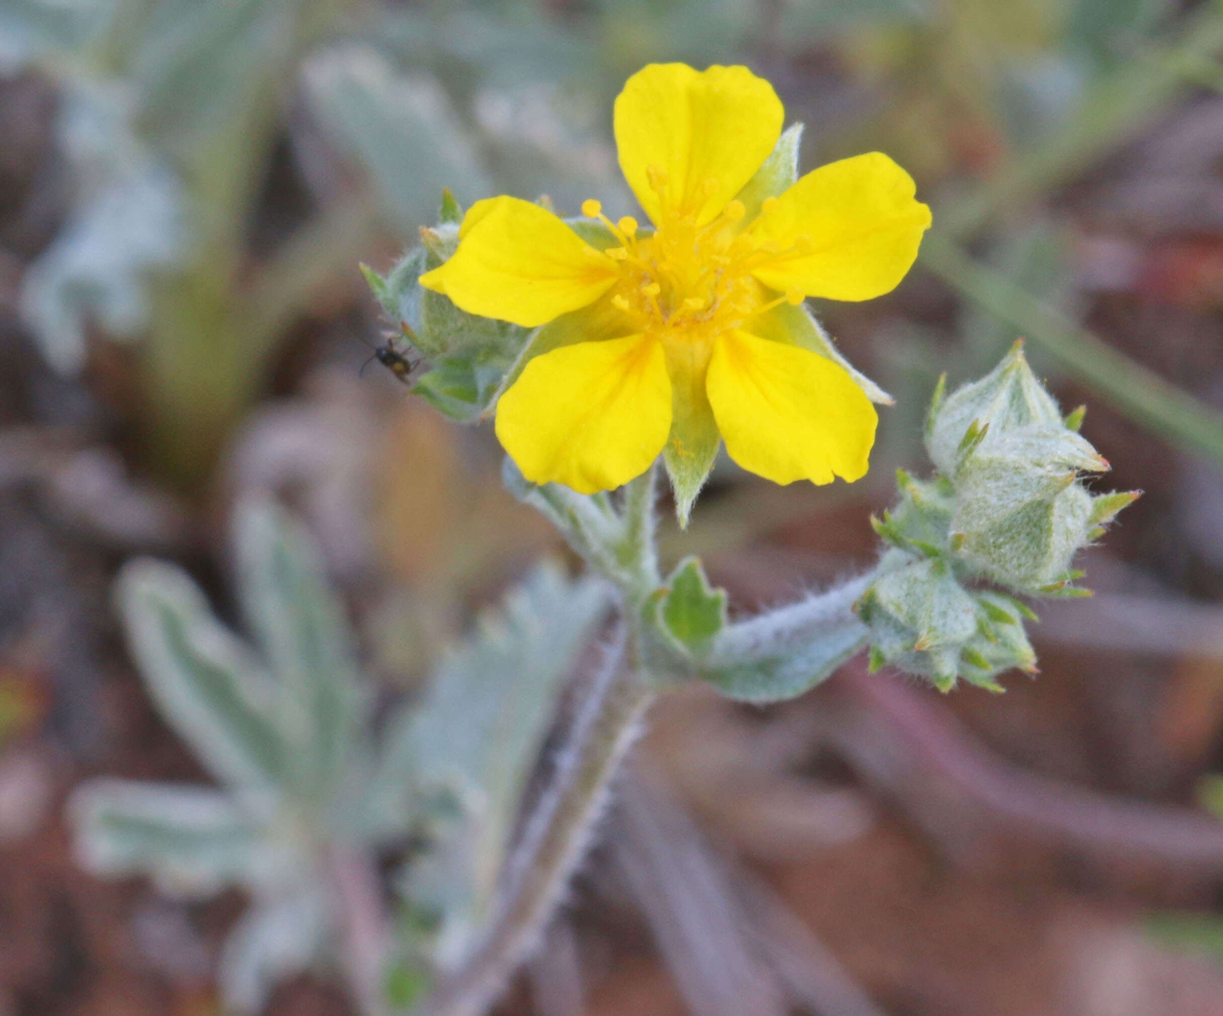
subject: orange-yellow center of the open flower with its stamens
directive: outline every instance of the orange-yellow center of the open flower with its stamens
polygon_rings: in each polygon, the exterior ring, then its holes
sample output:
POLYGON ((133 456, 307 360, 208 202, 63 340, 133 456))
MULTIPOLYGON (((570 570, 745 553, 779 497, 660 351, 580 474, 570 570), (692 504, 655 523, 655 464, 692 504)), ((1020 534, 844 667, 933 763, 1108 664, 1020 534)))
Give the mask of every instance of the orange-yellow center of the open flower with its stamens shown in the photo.
MULTIPOLYGON (((651 183, 662 192, 665 175, 658 167, 651 170, 651 183)), ((715 181, 707 186, 717 190, 715 181)), ((582 214, 600 219, 620 241, 605 252, 620 264, 612 302, 632 320, 636 331, 689 342, 742 328, 783 301, 802 302, 801 292, 770 298, 752 276, 777 252, 742 230, 745 212, 742 202, 731 201, 704 226, 696 224, 693 214, 673 213, 652 235, 638 237, 635 219, 625 216, 613 224, 597 201, 582 203, 582 214)))

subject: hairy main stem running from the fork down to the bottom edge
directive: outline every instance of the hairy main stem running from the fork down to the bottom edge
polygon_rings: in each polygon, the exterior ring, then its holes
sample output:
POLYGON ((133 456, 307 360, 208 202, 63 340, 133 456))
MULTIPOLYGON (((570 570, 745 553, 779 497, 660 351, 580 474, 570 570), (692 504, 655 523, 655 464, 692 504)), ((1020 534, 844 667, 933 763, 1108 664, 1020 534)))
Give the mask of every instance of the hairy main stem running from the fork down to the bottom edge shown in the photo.
POLYGON ((637 671, 631 643, 632 637, 621 631, 608 650, 549 786, 506 863, 488 932, 471 959, 438 984, 422 1016, 481 1016, 539 943, 586 853, 612 779, 653 698, 637 671))

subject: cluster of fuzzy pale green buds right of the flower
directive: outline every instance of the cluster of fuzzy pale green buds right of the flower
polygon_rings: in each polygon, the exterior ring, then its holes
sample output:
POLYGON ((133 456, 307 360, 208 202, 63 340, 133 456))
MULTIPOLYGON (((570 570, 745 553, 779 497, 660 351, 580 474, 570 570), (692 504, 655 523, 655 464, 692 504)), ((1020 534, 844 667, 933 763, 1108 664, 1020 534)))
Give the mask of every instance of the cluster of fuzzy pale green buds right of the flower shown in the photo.
POLYGON ((1024 631, 1035 614, 1014 598, 1090 595, 1074 555, 1137 491, 1092 495, 1082 476, 1108 462, 1063 417, 1016 342, 987 377, 934 394, 926 447, 937 474, 899 476, 900 500, 872 520, 888 544, 879 577, 857 603, 871 664, 1002 691, 998 674, 1035 671, 1024 631), (989 582, 999 589, 985 588, 989 582))

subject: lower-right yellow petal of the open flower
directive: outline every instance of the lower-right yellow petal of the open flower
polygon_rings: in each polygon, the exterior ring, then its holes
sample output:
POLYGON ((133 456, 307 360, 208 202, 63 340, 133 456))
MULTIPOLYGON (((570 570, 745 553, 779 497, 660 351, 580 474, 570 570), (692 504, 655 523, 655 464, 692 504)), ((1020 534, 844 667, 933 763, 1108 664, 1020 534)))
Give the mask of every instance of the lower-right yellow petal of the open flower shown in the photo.
POLYGON ((706 378, 726 451, 774 483, 866 474, 874 406, 839 364, 810 350, 719 335, 706 378))

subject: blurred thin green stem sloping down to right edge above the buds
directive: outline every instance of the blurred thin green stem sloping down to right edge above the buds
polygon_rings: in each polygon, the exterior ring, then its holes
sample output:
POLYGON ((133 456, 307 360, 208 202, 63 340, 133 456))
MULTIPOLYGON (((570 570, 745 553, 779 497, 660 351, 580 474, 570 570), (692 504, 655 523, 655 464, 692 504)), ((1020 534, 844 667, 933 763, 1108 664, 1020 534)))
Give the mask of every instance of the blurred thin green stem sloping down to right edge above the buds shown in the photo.
POLYGON ((947 236, 927 234, 921 262, 966 297, 1038 342, 1069 373, 1119 410, 1173 444, 1191 445, 1223 461, 1223 413, 1046 307, 1004 275, 974 262, 947 236))

